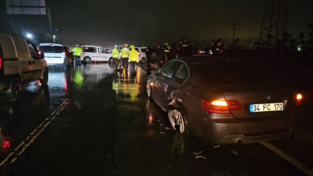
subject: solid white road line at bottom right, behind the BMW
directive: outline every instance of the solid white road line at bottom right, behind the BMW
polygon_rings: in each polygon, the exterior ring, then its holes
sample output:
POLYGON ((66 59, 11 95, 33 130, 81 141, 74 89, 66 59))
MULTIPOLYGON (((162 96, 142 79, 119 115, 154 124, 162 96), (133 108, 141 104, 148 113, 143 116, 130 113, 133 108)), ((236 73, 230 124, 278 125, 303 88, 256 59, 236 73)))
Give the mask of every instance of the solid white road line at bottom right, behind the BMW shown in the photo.
POLYGON ((276 154, 278 154, 281 158, 284 158, 285 160, 287 160, 289 163, 293 164, 295 167, 297 167, 298 169, 300 169, 301 171, 303 171, 304 173, 313 176, 313 170, 306 167, 304 164, 300 163, 298 160, 296 160, 295 158, 292 158, 291 156, 289 156, 287 153, 281 151, 279 148, 275 147, 274 145, 263 141, 260 142, 262 145, 264 145, 265 147, 269 148, 270 150, 272 150, 273 152, 275 152, 276 154))

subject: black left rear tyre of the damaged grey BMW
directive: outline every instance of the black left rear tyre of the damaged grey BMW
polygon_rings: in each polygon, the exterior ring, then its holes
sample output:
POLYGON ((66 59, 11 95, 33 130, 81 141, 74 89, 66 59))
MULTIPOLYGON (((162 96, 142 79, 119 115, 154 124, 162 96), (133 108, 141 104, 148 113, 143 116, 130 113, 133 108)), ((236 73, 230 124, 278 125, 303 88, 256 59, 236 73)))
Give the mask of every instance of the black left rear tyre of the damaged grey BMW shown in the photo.
MULTIPOLYGON (((181 134, 185 133, 187 137, 192 136, 192 132, 191 132, 190 124, 189 124, 189 119, 188 119, 185 108, 182 106, 181 103, 174 103, 173 107, 172 107, 172 111, 174 111, 174 110, 177 110, 177 113, 179 114, 178 116, 180 116, 178 119, 180 120, 180 122, 182 122, 178 126, 179 133, 181 133, 181 134), (184 128, 184 129, 182 129, 182 128, 184 128)), ((170 119, 170 121, 171 121, 171 119, 170 119)))

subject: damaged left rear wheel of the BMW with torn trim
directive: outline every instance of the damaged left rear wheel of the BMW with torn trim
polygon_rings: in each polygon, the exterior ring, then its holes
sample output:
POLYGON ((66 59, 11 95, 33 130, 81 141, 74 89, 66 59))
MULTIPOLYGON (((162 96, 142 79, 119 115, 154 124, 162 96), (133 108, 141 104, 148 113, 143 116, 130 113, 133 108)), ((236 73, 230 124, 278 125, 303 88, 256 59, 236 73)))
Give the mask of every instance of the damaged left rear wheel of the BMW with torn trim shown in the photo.
POLYGON ((168 118, 174 129, 177 125, 179 133, 186 133, 187 137, 191 136, 189 119, 186 111, 180 103, 175 103, 172 110, 168 112, 168 118), (174 125, 173 125, 174 124, 174 125))

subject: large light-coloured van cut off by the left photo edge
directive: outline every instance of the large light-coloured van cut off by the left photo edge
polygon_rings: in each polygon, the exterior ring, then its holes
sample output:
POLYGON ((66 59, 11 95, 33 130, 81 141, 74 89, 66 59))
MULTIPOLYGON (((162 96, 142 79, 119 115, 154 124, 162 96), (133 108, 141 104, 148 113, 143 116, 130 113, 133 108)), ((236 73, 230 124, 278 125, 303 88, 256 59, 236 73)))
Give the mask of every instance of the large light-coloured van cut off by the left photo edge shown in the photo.
POLYGON ((21 86, 39 80, 48 83, 48 66, 44 53, 16 34, 0 32, 0 92, 8 92, 17 99, 21 86))

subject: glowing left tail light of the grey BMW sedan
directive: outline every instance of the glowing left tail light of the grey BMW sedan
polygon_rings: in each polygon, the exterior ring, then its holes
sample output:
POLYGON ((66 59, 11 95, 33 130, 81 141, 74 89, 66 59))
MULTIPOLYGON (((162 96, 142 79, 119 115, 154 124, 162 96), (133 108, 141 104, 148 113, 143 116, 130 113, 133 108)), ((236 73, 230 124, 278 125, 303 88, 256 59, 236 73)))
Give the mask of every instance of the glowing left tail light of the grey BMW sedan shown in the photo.
POLYGON ((239 101, 206 101, 202 100, 203 109, 210 113, 230 113, 230 110, 240 110, 243 109, 239 101))

